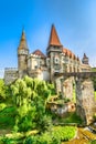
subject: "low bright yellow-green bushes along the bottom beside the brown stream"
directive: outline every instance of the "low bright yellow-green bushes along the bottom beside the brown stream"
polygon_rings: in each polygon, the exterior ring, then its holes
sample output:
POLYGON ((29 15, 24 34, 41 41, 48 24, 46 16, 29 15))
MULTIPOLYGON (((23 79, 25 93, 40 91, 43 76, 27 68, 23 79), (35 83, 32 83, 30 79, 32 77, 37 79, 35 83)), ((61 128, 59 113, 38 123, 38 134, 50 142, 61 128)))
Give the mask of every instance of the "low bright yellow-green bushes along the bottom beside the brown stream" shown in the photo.
POLYGON ((76 128, 73 126, 55 126, 52 132, 28 137, 24 144, 61 144, 73 138, 75 133, 76 128))

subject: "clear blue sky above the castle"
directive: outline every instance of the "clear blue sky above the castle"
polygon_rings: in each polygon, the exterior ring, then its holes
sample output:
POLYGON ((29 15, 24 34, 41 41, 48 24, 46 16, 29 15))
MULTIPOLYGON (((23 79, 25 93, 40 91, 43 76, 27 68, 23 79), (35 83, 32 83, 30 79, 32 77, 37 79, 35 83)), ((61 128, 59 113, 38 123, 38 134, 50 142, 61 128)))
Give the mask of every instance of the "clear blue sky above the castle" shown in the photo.
POLYGON ((22 29, 30 53, 45 53, 52 24, 65 48, 96 66, 96 0, 0 0, 0 78, 18 66, 22 29))

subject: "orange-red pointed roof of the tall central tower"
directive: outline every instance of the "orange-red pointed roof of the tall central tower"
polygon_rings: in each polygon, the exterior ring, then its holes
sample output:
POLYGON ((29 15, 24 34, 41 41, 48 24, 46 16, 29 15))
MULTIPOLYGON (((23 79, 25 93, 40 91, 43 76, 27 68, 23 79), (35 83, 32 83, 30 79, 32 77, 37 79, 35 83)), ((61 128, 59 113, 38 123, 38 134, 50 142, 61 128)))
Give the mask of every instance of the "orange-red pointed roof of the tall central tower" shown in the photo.
POLYGON ((62 47, 60 39, 58 39, 58 35, 56 33, 55 27, 53 24, 52 24, 52 29, 51 29, 49 45, 62 47))

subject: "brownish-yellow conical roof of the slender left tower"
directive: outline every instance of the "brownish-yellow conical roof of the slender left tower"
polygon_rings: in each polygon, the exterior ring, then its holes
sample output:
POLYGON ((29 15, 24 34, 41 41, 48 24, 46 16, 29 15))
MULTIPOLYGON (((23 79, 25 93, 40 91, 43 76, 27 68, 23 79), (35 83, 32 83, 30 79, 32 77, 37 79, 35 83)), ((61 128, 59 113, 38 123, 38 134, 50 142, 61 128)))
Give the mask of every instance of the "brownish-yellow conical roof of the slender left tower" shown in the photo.
POLYGON ((22 35, 21 35, 21 40, 20 40, 20 44, 19 44, 19 50, 21 49, 26 49, 28 50, 28 44, 26 44, 26 39, 25 39, 25 32, 24 30, 22 31, 22 35))

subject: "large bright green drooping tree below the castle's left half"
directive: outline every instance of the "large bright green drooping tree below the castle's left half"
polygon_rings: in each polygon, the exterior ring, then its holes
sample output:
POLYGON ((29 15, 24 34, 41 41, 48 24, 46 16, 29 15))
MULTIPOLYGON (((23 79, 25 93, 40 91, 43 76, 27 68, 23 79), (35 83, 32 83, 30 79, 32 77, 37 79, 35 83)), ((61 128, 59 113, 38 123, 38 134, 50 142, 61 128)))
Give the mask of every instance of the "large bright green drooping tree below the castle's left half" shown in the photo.
POLYGON ((25 76, 11 85, 13 103, 17 107, 17 131, 40 128, 45 131, 51 124, 51 119, 45 114, 45 105, 51 91, 45 81, 25 76))

